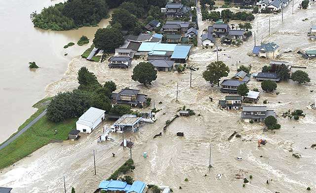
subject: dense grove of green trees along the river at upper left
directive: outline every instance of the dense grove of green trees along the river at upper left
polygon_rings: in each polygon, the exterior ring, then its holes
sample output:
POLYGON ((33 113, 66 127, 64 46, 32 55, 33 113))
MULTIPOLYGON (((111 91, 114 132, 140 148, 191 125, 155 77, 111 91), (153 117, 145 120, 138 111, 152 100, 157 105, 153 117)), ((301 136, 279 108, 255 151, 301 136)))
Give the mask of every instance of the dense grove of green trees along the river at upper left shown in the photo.
POLYGON ((35 27, 62 31, 95 26, 107 15, 105 0, 68 0, 44 8, 40 14, 35 11, 30 17, 35 27))

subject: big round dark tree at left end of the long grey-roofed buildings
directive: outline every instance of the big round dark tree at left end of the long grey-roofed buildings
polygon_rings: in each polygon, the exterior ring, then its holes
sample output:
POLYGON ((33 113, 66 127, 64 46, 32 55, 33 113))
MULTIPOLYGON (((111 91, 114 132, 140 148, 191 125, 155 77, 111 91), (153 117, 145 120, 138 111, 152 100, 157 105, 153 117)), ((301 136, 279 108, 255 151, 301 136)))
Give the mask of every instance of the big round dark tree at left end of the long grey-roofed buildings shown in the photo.
POLYGON ((93 43, 105 53, 113 53, 115 48, 124 43, 124 39, 118 29, 102 28, 95 33, 93 43))

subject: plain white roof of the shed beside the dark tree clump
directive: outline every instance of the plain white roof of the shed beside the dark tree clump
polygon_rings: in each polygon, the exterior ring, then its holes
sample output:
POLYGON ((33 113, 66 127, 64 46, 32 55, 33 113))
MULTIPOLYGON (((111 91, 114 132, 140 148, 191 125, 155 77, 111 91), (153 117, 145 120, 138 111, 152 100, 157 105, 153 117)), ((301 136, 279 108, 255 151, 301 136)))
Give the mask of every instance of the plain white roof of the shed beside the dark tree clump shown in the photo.
POLYGON ((105 113, 104 110, 90 107, 82 116, 79 117, 78 123, 91 126, 98 118, 103 116, 105 113))

